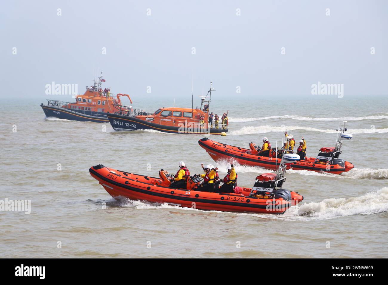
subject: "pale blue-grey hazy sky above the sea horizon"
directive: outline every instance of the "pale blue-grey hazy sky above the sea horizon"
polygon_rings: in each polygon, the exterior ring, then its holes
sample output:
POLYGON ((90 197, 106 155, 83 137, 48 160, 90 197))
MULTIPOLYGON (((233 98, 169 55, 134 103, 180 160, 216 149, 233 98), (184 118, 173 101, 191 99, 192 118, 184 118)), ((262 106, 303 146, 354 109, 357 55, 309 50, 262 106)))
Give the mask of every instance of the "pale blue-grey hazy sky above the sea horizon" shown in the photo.
POLYGON ((210 80, 227 97, 311 95, 318 81, 386 95, 387 16, 388 1, 5 1, 0 96, 45 98, 52 81, 83 93, 101 70, 134 97, 189 96, 192 76, 194 95, 210 80))

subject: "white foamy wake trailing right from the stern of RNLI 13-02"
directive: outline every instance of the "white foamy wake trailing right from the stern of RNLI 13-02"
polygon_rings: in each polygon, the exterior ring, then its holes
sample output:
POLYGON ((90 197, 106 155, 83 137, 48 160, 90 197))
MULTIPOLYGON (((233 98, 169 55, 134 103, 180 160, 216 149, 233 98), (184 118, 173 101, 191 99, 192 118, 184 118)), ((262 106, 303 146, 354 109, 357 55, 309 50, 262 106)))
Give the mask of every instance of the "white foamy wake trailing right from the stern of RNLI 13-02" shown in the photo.
MULTIPOLYGON (((293 130, 305 130, 305 131, 319 131, 321 133, 337 133, 336 130, 321 130, 317 128, 310 127, 300 127, 300 126, 245 126, 240 130, 230 131, 230 135, 249 135, 249 134, 260 134, 260 133, 270 133, 270 132, 284 132, 284 131, 293 131, 293 130)), ((348 129, 349 133, 352 134, 367 134, 367 133, 388 133, 388 128, 386 129, 348 129)))

